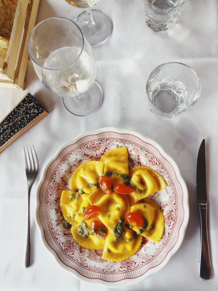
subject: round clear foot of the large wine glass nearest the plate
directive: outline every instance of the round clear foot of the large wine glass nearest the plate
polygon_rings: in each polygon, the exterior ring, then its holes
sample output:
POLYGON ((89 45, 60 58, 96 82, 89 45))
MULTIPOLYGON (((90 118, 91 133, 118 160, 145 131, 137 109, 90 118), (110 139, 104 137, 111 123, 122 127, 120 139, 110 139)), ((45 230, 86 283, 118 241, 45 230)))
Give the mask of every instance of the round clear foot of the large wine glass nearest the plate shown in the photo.
POLYGON ((63 104, 69 113, 76 116, 87 116, 101 106, 103 93, 101 86, 94 81, 92 86, 77 97, 62 97, 63 104))

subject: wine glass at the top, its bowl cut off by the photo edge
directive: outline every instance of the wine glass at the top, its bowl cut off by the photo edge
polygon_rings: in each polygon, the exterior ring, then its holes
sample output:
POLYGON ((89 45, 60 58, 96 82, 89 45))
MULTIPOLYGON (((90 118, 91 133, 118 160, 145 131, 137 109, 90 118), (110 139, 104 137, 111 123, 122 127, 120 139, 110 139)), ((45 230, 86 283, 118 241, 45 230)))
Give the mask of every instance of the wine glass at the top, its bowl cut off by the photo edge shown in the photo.
POLYGON ((74 22, 81 28, 83 35, 90 45, 98 45, 104 42, 112 31, 110 18, 97 9, 91 9, 100 0, 65 0, 73 6, 86 8, 80 13, 74 22))

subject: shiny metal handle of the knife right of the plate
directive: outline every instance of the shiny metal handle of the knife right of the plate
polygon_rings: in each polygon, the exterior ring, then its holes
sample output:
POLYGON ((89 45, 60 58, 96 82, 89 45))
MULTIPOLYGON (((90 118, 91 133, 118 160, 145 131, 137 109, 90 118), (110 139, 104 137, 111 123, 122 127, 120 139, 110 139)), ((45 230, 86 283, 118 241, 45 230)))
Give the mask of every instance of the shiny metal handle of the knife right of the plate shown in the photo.
POLYGON ((199 205, 200 221, 201 221, 201 253, 199 276, 202 280, 209 280, 212 277, 210 251, 208 246, 207 231, 207 206, 199 205))

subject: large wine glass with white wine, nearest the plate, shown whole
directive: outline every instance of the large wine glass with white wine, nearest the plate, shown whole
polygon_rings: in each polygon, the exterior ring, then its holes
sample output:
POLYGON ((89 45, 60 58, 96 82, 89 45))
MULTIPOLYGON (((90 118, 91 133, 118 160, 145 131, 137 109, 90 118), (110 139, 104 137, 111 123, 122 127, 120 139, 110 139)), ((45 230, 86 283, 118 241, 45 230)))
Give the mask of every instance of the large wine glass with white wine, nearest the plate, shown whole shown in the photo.
POLYGON ((87 116, 100 107, 92 47, 76 23, 62 17, 43 20, 30 33, 28 52, 40 81, 62 96, 70 113, 87 116))

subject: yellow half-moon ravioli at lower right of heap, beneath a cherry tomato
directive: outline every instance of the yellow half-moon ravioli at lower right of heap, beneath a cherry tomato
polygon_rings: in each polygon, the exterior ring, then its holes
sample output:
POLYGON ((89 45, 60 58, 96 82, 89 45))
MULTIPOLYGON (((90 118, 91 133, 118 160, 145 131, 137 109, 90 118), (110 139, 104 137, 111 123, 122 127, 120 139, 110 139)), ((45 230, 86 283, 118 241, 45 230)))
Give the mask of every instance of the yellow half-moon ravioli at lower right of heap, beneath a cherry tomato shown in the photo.
MULTIPOLYGON (((153 200, 145 198, 144 202, 132 205, 130 212, 137 212, 147 221, 147 227, 141 235, 153 242, 159 242, 164 231, 164 216, 158 205, 153 200)), ((138 227, 133 223, 129 224, 137 232, 138 227)))

